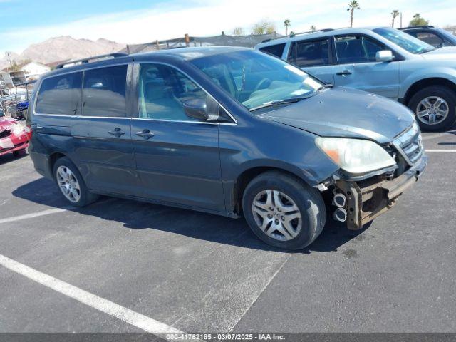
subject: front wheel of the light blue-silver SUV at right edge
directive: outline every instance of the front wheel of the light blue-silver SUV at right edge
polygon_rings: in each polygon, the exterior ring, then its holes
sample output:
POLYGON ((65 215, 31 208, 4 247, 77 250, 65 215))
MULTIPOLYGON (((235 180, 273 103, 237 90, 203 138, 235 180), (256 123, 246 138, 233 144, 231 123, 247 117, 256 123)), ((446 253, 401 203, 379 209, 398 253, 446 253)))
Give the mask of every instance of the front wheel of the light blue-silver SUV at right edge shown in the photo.
POLYGON ((418 91, 408 106, 423 130, 445 130, 456 120, 456 95, 445 86, 430 86, 418 91))

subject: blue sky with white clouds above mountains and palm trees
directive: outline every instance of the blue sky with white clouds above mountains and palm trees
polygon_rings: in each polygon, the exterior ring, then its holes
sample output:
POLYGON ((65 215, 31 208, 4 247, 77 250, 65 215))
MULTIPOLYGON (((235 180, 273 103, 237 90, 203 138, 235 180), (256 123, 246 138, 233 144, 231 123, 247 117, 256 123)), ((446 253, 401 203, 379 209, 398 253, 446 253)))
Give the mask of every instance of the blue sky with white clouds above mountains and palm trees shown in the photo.
MULTIPOLYGON (((344 27, 349 24, 348 0, 0 0, 0 57, 4 51, 21 53, 31 43, 53 36, 108 38, 120 43, 143 43, 189 33, 210 36, 231 33, 240 26, 268 19, 283 33, 291 30, 344 27), (20 19, 20 21, 19 21, 20 19)), ((431 24, 456 24, 454 0, 358 0, 355 26, 388 25, 393 9, 403 11, 407 24, 419 12, 431 24)), ((398 21, 398 19, 396 19, 398 21)))

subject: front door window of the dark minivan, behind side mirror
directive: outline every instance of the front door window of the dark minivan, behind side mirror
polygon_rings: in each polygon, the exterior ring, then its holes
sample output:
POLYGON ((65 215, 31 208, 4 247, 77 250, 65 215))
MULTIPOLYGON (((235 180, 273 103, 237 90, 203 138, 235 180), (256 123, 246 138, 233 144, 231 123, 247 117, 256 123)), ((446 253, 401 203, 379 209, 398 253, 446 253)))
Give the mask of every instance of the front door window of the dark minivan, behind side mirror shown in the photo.
POLYGON ((162 64, 142 64, 139 80, 140 118, 188 121, 184 103, 207 94, 180 71, 162 64))

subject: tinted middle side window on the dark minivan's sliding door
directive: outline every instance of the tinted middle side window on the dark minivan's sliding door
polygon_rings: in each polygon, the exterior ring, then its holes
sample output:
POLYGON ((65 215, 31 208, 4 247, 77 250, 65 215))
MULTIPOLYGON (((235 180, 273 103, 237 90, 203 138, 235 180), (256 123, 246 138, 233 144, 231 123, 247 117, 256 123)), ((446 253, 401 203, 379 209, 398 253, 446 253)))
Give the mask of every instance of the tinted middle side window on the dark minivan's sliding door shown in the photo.
POLYGON ((83 85, 83 115, 125 116, 127 66, 86 70, 83 85))

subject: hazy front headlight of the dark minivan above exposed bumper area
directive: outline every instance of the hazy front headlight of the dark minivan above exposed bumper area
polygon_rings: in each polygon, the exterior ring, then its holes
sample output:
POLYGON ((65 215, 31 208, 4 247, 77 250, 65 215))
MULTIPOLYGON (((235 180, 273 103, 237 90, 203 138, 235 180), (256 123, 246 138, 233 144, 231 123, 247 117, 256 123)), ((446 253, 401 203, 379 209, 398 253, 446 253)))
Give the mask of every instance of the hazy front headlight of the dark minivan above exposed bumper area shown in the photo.
POLYGON ((395 165, 395 160, 380 145, 370 140, 316 138, 316 145, 341 169, 359 174, 395 165))

